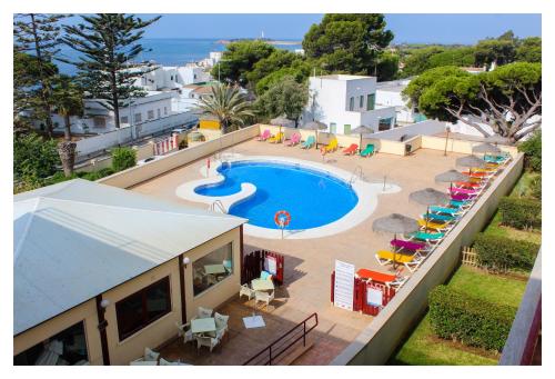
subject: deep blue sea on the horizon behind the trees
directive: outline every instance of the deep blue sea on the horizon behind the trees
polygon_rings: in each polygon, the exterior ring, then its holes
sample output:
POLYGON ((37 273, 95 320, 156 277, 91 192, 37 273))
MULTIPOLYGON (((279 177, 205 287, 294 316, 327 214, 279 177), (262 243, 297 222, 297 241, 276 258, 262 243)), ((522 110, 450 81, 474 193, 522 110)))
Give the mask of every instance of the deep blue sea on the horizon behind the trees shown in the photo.
MULTIPOLYGON (((224 51, 224 39, 191 39, 191 38, 143 38, 141 44, 144 51, 138 57, 139 61, 153 60, 162 66, 182 66, 196 62, 208 58, 211 51, 224 51)), ((284 42, 289 42, 283 40, 284 42)), ((295 50, 302 49, 300 43, 274 44, 278 49, 295 50)), ((68 46, 62 46, 60 54, 70 60, 77 60, 79 52, 68 46)), ((60 72, 75 74, 75 67, 72 64, 58 62, 60 72)))

